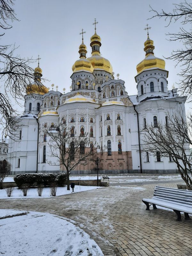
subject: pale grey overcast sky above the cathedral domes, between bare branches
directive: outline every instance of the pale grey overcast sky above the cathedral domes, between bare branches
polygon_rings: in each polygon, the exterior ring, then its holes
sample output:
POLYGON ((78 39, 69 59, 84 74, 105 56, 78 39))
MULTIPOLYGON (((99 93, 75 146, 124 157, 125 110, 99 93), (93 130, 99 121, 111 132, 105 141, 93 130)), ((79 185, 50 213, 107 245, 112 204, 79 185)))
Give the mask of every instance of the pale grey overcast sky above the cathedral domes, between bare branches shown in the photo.
MULTIPOLYGON (((170 43, 165 35, 168 32, 178 32, 180 23, 167 23, 163 19, 150 18, 151 5, 160 11, 172 11, 173 3, 180 0, 17 0, 14 5, 17 18, 13 28, 5 31, 3 42, 20 45, 17 49, 22 57, 41 57, 40 67, 43 76, 51 84, 59 86, 59 91, 69 92, 72 75, 72 65, 79 59, 78 47, 81 44, 79 35, 82 28, 86 31, 84 43, 87 46, 87 57, 91 56, 90 37, 94 34, 94 18, 99 22, 97 34, 101 37, 101 54, 113 66, 113 71, 120 74, 125 81, 128 95, 137 94, 134 76, 137 74, 137 64, 145 58, 143 51, 147 32, 146 24, 151 26, 149 37, 154 41, 156 57, 170 56, 173 49, 182 48, 180 42, 170 43)), ((169 71, 168 89, 179 82, 173 61, 165 60, 165 68, 169 71)), ((33 64, 33 68, 37 63, 33 64)), ((188 105, 189 107, 189 105, 188 105)))

